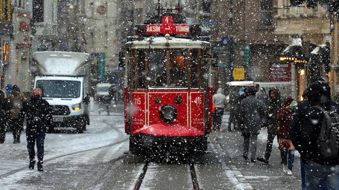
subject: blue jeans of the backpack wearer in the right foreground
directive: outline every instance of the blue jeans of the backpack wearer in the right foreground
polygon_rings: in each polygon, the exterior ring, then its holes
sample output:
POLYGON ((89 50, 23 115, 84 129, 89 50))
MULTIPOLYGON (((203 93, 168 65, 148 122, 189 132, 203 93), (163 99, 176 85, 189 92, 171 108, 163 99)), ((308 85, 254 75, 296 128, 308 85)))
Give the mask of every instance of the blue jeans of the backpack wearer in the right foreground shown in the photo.
POLYGON ((329 190, 339 189, 339 165, 321 165, 313 161, 305 164, 306 190, 318 190, 326 182, 329 190))

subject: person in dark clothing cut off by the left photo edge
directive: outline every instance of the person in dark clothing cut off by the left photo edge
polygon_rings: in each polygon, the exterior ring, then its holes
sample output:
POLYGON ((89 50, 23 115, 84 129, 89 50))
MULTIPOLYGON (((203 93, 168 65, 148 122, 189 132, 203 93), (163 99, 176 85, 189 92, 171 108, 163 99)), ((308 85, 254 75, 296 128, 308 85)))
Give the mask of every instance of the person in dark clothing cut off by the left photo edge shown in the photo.
POLYGON ((0 144, 5 142, 6 126, 9 123, 9 103, 6 92, 0 90, 0 144))

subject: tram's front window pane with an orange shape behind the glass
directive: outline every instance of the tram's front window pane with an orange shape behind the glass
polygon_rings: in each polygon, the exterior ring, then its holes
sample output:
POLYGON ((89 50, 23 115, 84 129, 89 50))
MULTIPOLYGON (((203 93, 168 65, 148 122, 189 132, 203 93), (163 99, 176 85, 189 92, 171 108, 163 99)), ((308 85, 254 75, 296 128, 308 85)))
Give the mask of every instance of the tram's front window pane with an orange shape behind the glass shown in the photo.
POLYGON ((187 87, 187 68, 184 52, 171 51, 169 59, 171 63, 169 85, 171 87, 187 87))

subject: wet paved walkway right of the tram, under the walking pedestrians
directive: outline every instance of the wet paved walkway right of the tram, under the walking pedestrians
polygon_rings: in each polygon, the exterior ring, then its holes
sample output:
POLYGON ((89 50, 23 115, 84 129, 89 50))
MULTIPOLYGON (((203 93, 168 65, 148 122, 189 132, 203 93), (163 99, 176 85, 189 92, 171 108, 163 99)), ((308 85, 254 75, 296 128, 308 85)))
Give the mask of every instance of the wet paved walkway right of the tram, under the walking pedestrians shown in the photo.
MULTIPOLYGON (((220 145, 224 151, 223 159, 232 170, 239 171, 254 189, 285 190, 301 189, 300 155, 295 153, 293 175, 287 176, 282 172, 280 151, 277 140, 273 143, 270 163, 263 164, 245 162, 243 154, 243 137, 240 131, 227 132, 228 115, 224 115, 221 132, 212 132, 212 143, 220 145)), ((262 157, 266 148, 267 129, 263 128, 258 136, 258 148, 256 157, 262 157)))

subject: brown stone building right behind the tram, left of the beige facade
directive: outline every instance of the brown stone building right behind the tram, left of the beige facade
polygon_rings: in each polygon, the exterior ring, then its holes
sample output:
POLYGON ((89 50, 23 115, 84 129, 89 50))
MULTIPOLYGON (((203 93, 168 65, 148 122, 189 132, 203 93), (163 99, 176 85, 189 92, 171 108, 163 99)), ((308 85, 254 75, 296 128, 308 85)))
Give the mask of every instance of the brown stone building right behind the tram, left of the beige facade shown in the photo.
POLYGON ((212 40, 222 87, 234 80, 234 68, 244 68, 240 80, 270 81, 277 52, 287 45, 275 34, 277 1, 212 1, 212 40))

